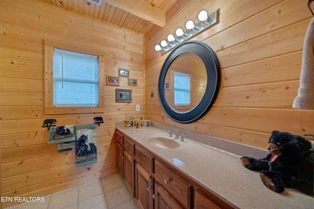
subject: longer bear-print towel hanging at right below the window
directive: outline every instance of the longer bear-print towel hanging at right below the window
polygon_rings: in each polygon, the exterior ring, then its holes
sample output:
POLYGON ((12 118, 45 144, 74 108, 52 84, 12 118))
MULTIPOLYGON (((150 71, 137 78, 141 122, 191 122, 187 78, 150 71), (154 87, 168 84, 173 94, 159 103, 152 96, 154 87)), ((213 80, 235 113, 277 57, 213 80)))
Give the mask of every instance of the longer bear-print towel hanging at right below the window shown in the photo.
POLYGON ((96 124, 77 125, 75 134, 77 167, 97 163, 96 124))

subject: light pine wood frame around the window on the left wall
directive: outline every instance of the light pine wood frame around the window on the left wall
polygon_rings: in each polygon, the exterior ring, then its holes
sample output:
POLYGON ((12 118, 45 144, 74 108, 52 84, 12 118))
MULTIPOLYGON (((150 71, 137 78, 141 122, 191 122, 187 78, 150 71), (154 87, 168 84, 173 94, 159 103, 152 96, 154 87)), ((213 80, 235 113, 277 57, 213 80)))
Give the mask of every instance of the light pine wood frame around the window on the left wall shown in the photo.
POLYGON ((54 41, 45 40, 45 114, 77 114, 77 113, 104 113, 105 106, 105 57, 96 54, 92 48, 84 48, 83 50, 69 46, 67 44, 60 44, 54 41), (98 70, 99 70, 99 92, 98 107, 54 107, 53 105, 53 56, 54 48, 60 48, 64 50, 96 55, 98 56, 98 70))

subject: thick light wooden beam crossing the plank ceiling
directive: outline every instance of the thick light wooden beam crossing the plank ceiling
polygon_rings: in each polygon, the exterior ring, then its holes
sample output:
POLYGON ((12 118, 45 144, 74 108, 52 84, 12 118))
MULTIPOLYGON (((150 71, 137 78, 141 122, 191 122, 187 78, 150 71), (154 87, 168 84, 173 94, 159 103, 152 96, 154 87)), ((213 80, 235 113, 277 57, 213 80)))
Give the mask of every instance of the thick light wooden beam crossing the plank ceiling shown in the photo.
POLYGON ((154 7, 145 0, 103 0, 115 7, 123 9, 137 17, 164 27, 166 25, 166 12, 154 7))

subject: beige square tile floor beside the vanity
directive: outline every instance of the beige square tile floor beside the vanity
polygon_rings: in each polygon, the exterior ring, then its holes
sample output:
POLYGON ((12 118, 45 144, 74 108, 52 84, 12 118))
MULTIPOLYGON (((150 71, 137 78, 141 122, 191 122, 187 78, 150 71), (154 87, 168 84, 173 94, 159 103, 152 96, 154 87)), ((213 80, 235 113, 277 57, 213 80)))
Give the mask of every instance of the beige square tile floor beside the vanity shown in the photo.
POLYGON ((44 202, 5 209, 137 209, 119 174, 45 196, 44 202))

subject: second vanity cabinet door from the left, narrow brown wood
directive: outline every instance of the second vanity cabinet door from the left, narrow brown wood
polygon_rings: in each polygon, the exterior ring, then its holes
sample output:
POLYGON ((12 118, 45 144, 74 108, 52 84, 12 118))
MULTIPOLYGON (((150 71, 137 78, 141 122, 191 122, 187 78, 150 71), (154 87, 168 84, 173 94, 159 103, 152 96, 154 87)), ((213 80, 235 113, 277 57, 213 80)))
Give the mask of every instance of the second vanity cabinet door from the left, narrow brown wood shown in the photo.
POLYGON ((134 190, 134 158, 124 150, 124 182, 129 189, 132 197, 135 197, 135 190, 134 190))

